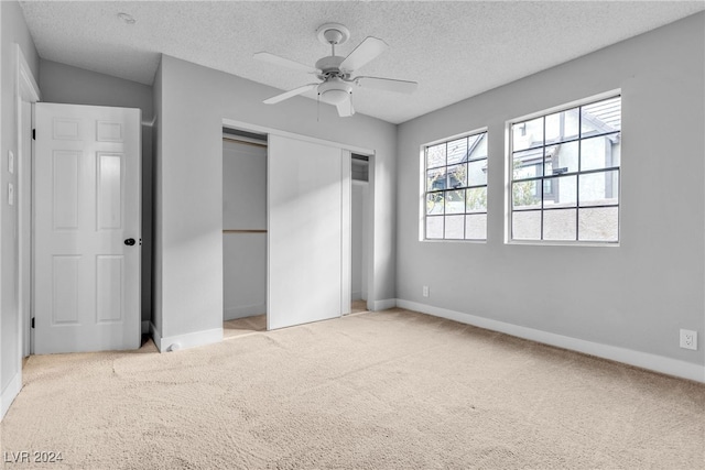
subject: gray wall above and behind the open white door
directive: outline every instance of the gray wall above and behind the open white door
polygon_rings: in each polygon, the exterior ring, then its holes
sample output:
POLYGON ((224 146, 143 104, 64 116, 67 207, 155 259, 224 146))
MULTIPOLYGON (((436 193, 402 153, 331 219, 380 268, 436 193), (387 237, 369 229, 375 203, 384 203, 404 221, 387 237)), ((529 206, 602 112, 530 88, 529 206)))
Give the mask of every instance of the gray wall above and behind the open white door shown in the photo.
POLYGON ((142 320, 152 313, 152 87, 42 59, 39 85, 42 101, 112 106, 142 110, 142 320))

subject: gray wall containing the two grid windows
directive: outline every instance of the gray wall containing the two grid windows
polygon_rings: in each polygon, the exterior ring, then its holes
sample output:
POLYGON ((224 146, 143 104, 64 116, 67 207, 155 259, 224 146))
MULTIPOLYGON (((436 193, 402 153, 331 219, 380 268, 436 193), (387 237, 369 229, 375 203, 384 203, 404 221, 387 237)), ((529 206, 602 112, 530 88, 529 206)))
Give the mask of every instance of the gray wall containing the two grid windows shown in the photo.
POLYGON ((400 125, 401 299, 703 364, 705 14, 400 125), (618 248, 505 243, 506 121, 621 88, 618 248), (487 243, 420 242, 420 147, 488 127, 487 243), (431 296, 422 297, 422 286, 431 296))

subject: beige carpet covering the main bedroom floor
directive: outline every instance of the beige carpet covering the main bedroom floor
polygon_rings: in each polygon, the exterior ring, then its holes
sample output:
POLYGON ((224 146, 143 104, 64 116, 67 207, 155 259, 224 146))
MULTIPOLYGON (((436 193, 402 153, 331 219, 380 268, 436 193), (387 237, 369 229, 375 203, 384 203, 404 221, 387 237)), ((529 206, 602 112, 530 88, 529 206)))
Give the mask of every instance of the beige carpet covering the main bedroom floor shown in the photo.
MULTIPOLYGON (((159 354, 32 357, 42 469, 697 469, 705 385, 404 310, 159 354)), ((32 468, 10 464, 7 468, 32 468)))

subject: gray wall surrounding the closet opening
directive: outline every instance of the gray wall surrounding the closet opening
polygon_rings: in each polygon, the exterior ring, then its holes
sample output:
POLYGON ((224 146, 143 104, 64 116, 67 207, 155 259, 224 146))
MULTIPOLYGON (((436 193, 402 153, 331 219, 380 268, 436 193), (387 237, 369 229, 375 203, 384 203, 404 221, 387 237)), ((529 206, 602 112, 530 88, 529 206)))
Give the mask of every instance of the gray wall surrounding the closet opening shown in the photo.
POLYGON ((221 327, 224 119, 373 149, 372 299, 394 298, 395 127, 163 56, 155 84, 158 195, 155 326, 162 337, 221 327), (159 94, 156 92, 160 90, 159 94))

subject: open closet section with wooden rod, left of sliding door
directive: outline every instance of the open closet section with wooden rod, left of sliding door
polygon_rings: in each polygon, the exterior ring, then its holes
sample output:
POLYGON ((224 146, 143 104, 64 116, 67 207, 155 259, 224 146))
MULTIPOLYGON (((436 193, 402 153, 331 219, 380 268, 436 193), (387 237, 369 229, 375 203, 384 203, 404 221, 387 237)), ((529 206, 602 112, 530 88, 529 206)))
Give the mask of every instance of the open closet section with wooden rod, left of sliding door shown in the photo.
POLYGON ((267 329, 267 134, 223 129, 223 334, 267 329))

